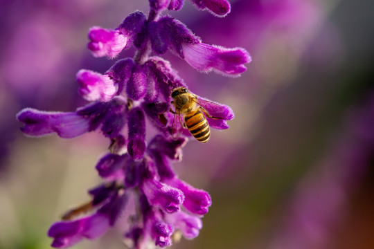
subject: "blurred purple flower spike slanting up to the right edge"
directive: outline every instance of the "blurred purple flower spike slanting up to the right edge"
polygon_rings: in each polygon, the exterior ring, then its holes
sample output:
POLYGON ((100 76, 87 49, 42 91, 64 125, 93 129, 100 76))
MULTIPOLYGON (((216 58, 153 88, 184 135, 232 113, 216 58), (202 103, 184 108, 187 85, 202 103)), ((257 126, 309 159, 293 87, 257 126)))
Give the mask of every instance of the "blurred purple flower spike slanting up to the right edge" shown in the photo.
POLYGON ((353 190, 374 153, 374 94, 352 111, 344 132, 298 185, 290 213, 269 248, 325 248, 353 190))

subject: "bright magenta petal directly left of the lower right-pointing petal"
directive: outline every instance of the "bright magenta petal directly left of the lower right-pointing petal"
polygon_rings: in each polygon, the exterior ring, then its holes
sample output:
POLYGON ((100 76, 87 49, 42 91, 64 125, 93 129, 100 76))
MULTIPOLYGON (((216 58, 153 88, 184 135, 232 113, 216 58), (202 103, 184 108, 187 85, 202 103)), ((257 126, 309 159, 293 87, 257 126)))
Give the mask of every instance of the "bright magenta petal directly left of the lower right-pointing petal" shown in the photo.
POLYGON ((154 178, 145 179, 141 189, 150 204, 161 208, 164 212, 177 212, 179 211, 179 205, 184 202, 184 194, 180 190, 154 178))

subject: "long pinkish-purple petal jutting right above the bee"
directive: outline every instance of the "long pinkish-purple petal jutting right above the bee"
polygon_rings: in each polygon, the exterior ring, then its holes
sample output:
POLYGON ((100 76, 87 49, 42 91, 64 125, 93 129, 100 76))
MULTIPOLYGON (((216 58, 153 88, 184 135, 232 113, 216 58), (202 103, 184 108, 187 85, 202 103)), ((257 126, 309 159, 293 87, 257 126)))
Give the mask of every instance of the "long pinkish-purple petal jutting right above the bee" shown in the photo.
POLYGON ((184 44, 183 55, 186 62, 199 71, 215 71, 229 76, 240 76, 247 70, 244 64, 251 57, 243 48, 222 48, 208 44, 184 44))

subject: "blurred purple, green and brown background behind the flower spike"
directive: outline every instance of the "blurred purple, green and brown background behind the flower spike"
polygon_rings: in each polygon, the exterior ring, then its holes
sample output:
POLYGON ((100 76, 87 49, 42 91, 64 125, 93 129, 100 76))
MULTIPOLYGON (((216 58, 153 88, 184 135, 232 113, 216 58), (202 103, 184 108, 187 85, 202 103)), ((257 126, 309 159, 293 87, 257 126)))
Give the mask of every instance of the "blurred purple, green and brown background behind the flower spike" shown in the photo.
MULTIPOLYGON (((228 104, 230 129, 190 141, 179 177, 211 193, 193 241, 172 248, 374 248, 374 1, 232 0, 217 18, 186 1, 168 12, 207 44, 246 48, 239 78, 166 55, 191 91, 228 104)), ((100 133, 26 138, 15 114, 73 111, 75 73, 114 61, 86 49, 91 26, 116 27, 143 0, 0 1, 0 248, 49 248, 60 214, 89 200, 100 133)), ((126 50, 121 57, 132 57, 126 50)), ((151 133, 148 134, 150 138, 151 133)), ((116 230, 74 248, 123 248, 116 230)))

